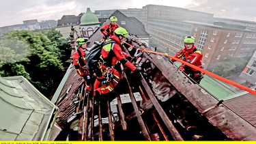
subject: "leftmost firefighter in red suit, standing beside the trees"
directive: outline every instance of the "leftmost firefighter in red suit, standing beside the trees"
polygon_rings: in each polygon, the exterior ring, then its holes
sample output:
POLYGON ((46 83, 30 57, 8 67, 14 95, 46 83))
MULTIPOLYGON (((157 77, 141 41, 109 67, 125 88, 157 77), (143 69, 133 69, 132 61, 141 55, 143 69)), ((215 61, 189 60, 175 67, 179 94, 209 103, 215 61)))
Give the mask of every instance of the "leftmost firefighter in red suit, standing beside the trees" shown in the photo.
POLYGON ((85 80, 86 89, 88 91, 92 90, 92 79, 89 75, 89 71, 85 68, 85 51, 87 51, 87 44, 83 38, 78 38, 76 40, 77 51, 72 55, 72 61, 74 63, 74 68, 79 76, 83 77, 85 80))

